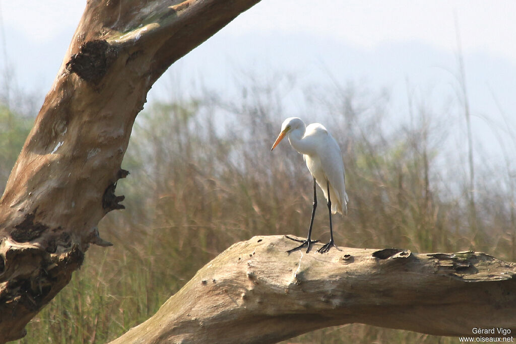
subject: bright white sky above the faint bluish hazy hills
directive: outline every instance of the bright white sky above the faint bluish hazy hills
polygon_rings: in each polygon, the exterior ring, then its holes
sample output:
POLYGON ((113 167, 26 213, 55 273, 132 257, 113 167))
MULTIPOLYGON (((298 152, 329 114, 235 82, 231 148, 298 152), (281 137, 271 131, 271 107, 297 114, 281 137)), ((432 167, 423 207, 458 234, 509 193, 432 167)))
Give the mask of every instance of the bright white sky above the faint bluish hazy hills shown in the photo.
MULTIPOLYGON (((123 1, 123 0, 122 0, 123 1)), ((34 42, 51 41, 73 31, 84 1, 2 0, 4 25, 34 42)), ((421 41, 445 50, 456 48, 454 11, 464 50, 480 50, 516 61, 516 2, 511 0, 335 1, 263 0, 226 30, 310 32, 347 43, 374 47, 385 42, 421 41)))

